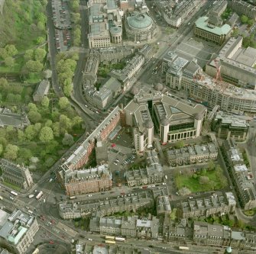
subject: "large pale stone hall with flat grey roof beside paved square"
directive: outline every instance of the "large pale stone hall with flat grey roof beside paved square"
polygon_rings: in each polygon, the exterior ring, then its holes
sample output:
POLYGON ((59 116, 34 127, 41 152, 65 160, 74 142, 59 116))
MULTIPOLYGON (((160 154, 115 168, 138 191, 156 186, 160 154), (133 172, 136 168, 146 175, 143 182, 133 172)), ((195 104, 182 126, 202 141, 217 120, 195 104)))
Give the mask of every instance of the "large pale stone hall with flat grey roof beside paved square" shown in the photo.
POLYGON ((231 37, 206 64, 206 74, 242 88, 256 88, 256 49, 242 47, 243 37, 231 37))

